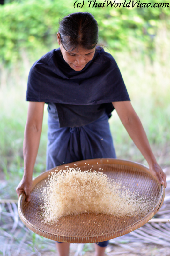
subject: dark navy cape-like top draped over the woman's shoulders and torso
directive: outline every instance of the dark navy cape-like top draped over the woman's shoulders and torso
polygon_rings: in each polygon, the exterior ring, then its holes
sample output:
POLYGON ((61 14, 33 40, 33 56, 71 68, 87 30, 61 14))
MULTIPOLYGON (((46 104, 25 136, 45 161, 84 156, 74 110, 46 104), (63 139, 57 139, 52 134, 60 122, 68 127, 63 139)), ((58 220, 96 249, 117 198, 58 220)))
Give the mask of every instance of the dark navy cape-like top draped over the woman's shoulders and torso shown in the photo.
POLYGON ((65 62, 60 48, 45 54, 30 70, 26 100, 48 103, 60 127, 79 127, 110 115, 111 102, 130 99, 114 58, 97 47, 81 71, 65 62))

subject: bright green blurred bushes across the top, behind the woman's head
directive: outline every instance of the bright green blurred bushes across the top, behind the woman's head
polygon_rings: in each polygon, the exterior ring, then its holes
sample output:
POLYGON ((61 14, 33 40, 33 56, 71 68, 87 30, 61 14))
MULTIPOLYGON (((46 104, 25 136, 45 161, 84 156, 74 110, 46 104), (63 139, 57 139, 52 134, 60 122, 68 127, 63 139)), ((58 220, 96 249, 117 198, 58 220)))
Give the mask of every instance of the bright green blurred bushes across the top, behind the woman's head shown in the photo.
POLYGON ((23 48, 30 58, 39 58, 56 42, 59 18, 75 11, 92 12, 99 23, 101 43, 115 50, 130 49, 129 37, 133 37, 143 41, 142 50, 152 55, 160 21, 170 25, 170 8, 87 8, 85 1, 82 9, 73 9, 73 3, 73 0, 6 1, 0 6, 0 62, 15 63, 23 48))

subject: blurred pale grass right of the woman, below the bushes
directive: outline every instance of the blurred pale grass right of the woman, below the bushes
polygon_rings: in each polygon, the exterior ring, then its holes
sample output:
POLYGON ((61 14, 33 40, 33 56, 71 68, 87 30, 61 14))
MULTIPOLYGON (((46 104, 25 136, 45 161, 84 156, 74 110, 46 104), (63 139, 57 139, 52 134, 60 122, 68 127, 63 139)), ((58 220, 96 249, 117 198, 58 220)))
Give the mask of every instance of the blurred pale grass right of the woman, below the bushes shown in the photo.
MULTIPOLYGON (((153 62, 140 51, 132 51, 131 54, 112 52, 121 69, 131 103, 142 121, 151 148, 162 167, 170 165, 170 49, 167 42, 170 42, 169 35, 160 30, 156 38, 153 62), (163 42, 166 42, 164 47, 163 42)), ((110 125, 117 157, 147 164, 115 111, 110 125)))

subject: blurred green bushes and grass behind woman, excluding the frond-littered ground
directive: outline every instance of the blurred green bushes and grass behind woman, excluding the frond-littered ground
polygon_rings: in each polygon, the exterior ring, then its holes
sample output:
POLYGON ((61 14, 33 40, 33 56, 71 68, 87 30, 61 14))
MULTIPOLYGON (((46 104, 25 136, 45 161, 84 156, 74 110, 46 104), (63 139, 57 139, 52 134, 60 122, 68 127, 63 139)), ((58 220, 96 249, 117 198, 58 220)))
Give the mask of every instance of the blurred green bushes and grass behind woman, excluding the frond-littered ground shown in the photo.
MULTIPOLYGON (((158 163, 162 168, 170 166, 170 7, 87 8, 85 0, 83 8, 74 9, 73 3, 73 0, 4 0, 0 4, 1 199, 17 199, 15 188, 23 175, 29 70, 42 55, 58 48, 58 20, 72 12, 91 12, 98 21, 99 45, 117 61, 158 163)), ((117 158, 147 165, 115 111, 110 126, 117 158)), ((45 171, 46 143, 45 109, 34 176, 45 171)))

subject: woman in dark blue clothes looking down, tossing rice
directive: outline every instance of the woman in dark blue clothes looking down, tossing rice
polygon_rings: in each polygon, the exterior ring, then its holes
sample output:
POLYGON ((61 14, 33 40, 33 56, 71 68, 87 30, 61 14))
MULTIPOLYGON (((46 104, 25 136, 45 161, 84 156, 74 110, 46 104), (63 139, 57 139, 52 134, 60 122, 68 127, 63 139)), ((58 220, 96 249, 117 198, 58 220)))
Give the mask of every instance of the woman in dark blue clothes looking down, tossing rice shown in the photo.
MULTIPOLYGON (((90 13, 72 13, 60 22, 60 48, 36 61, 30 70, 26 100, 28 117, 24 138, 24 176, 16 191, 30 201, 33 168, 38 152, 44 103, 48 103, 47 169, 83 159, 115 158, 108 118, 115 108, 122 124, 166 186, 166 175, 157 164, 142 124, 129 99, 113 57, 96 47, 97 21, 90 13)), ((95 244, 104 255, 108 241, 95 244)), ((67 256, 69 243, 57 243, 67 256)))

